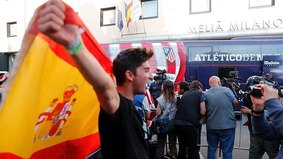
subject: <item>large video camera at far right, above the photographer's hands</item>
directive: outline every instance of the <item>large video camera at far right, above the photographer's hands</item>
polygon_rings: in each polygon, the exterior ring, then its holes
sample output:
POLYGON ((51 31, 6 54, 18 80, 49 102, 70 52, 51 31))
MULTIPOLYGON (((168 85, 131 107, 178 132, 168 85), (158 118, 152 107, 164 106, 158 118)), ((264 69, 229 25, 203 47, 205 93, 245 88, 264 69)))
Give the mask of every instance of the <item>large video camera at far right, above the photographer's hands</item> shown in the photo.
POLYGON ((262 96, 261 90, 254 87, 256 84, 266 84, 272 87, 275 90, 278 90, 278 95, 283 97, 283 86, 279 85, 277 81, 274 79, 272 74, 268 75, 268 78, 265 77, 262 73, 261 76, 251 76, 248 78, 247 83, 245 84, 243 91, 248 91, 251 95, 260 97, 262 96))

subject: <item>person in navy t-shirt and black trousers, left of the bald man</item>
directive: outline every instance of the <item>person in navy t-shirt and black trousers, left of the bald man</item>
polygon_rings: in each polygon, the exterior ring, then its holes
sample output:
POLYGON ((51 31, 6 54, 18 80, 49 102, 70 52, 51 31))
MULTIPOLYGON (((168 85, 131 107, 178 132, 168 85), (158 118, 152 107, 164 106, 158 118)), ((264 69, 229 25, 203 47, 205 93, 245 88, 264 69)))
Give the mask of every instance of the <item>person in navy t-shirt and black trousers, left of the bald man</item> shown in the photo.
POLYGON ((178 159, 198 159, 199 117, 205 114, 205 96, 201 92, 202 84, 192 81, 189 91, 185 92, 179 102, 175 116, 175 127, 179 141, 178 159))

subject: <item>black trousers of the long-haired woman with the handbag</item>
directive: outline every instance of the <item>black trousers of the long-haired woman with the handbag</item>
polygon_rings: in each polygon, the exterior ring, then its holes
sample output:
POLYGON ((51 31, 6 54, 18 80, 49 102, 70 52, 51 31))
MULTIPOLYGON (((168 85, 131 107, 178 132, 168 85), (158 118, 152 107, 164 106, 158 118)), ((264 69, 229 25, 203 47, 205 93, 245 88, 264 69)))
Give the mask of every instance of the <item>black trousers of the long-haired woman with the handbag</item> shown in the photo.
MULTIPOLYGON (((156 159, 163 159, 164 155, 164 147, 165 143, 167 141, 167 134, 158 134, 157 135, 157 148, 156 148, 156 159)), ((169 142, 169 150, 170 153, 177 157, 177 135, 175 133, 175 130, 171 130, 168 133, 168 142, 169 142)))

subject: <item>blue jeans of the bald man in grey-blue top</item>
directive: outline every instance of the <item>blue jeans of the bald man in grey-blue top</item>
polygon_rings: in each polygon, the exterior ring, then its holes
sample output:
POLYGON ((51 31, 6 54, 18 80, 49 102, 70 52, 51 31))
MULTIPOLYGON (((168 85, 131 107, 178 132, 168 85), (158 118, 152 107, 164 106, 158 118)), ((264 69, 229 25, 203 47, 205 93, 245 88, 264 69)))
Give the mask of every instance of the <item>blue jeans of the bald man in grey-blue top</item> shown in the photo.
POLYGON ((220 143, 223 159, 232 159, 232 151, 235 141, 236 128, 229 129, 207 129, 207 159, 215 159, 216 150, 220 143))

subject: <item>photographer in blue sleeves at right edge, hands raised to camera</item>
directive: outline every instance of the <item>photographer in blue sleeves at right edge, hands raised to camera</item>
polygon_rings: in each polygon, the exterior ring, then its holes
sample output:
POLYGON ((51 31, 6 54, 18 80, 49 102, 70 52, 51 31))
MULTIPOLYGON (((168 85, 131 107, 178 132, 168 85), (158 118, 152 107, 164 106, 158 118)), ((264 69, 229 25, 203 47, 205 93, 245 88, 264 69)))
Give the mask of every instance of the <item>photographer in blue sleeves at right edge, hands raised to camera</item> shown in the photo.
MULTIPOLYGON (((283 137, 283 106, 279 102, 279 93, 267 85, 255 85, 260 88, 263 96, 251 95, 252 108, 252 129, 255 135, 266 140, 278 140, 283 137), (270 122, 264 116, 264 107, 269 112, 270 122)), ((281 143, 282 145, 283 143, 281 143)), ((283 147, 275 159, 283 158, 283 147)))

